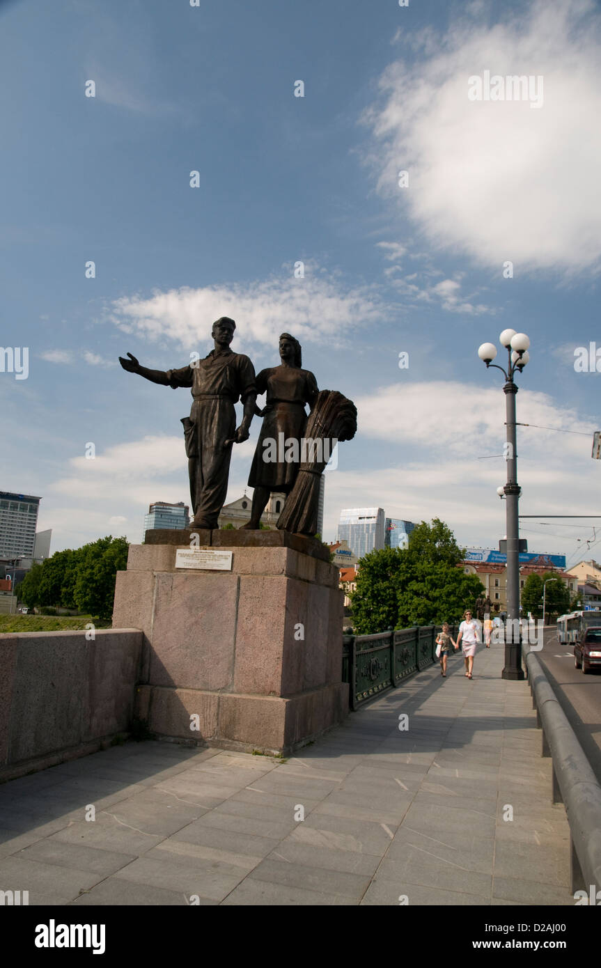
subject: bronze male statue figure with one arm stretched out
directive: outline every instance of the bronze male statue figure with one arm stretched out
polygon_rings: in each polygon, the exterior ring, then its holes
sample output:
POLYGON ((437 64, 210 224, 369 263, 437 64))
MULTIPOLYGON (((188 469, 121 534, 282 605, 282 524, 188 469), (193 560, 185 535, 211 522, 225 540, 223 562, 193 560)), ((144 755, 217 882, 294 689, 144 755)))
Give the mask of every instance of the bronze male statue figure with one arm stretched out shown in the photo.
POLYGON ((170 386, 192 387, 194 403, 190 417, 184 417, 186 454, 190 474, 190 496, 194 510, 192 528, 217 528, 225 503, 227 476, 233 443, 249 439, 255 413, 255 368, 248 356, 234 353, 229 344, 236 324, 226 316, 213 323, 215 348, 204 359, 181 370, 148 370, 135 356, 119 357, 128 373, 170 386), (236 429, 234 404, 242 400, 244 415, 236 429))

